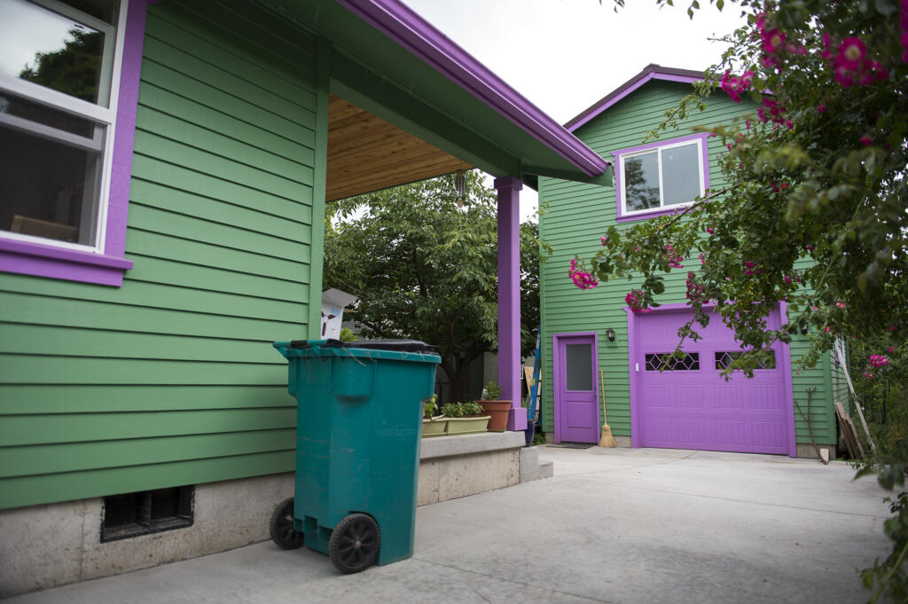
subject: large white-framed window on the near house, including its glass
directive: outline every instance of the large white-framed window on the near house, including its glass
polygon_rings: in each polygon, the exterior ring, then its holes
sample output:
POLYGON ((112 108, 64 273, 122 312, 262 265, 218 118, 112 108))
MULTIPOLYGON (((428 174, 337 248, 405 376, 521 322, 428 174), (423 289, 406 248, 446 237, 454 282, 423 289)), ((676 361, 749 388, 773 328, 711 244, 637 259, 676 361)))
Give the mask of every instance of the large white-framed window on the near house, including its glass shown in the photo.
POLYGON ((104 254, 126 0, 0 0, 0 239, 104 254))

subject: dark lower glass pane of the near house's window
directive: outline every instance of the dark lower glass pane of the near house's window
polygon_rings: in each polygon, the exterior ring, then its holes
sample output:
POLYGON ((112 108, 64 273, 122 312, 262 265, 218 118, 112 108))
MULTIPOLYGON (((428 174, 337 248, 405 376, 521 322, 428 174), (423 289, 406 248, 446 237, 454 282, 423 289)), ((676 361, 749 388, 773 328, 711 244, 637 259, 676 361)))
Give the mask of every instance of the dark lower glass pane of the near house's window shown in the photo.
POLYGON ((99 153, 0 128, 0 230, 94 244, 99 153))

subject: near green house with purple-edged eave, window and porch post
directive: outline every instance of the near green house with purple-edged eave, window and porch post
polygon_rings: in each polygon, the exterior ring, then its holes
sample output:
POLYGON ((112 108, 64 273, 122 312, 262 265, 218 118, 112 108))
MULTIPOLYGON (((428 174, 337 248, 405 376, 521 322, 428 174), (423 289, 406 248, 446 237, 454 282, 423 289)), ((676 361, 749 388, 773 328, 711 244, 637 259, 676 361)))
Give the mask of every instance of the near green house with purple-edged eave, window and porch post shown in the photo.
POLYGON ((606 161, 399 0, 6 0, 0 52, 0 597, 262 539, 326 201, 496 178, 524 428, 518 192, 606 161))

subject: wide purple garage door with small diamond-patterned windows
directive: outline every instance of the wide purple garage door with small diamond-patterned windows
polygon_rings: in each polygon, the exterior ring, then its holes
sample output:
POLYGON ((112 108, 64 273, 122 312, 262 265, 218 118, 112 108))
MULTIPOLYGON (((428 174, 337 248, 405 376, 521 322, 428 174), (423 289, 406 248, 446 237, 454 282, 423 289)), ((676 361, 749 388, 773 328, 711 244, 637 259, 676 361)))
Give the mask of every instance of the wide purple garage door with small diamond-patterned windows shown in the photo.
MULTIPOLYGON (((663 355, 675 350, 677 329, 689 316, 656 312, 634 317, 636 446, 791 453, 790 378, 781 345, 776 345, 775 361, 755 370, 753 378, 738 372, 725 381, 719 373, 740 351, 740 344, 715 316, 707 328, 698 330, 701 340, 685 343, 686 358, 670 361, 668 369, 658 371, 663 355)), ((778 312, 768 323, 770 328, 778 326, 778 312)))

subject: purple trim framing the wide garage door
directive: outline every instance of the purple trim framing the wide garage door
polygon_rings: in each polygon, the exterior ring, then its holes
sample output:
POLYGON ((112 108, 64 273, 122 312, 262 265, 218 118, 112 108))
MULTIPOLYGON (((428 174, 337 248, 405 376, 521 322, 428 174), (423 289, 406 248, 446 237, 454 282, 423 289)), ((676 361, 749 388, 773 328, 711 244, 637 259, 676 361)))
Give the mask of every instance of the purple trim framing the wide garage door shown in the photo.
MULTIPOLYGON (((705 304, 706 307, 714 304, 705 304)), ((630 385, 630 446, 633 449, 641 447, 639 426, 643 425, 640 418, 640 386, 637 381, 639 372, 635 371, 634 359, 639 359, 639 347, 637 345, 637 313, 625 306, 622 308, 627 313, 627 374, 630 385)), ((687 312, 690 306, 686 303, 662 304, 654 308, 653 312, 687 312)), ((788 322, 788 305, 785 302, 779 302, 779 325, 785 325, 788 322)), ((643 315, 649 316, 649 315, 643 315)), ((788 456, 797 457, 797 442, 795 437, 795 391, 792 384, 792 357, 791 346, 785 342, 775 342, 772 346, 775 350, 775 358, 781 363, 782 379, 785 382, 785 403, 787 406, 788 420, 788 456)), ((556 365, 557 366, 557 365, 556 365)))

